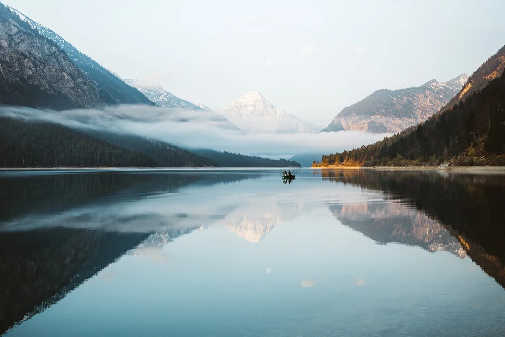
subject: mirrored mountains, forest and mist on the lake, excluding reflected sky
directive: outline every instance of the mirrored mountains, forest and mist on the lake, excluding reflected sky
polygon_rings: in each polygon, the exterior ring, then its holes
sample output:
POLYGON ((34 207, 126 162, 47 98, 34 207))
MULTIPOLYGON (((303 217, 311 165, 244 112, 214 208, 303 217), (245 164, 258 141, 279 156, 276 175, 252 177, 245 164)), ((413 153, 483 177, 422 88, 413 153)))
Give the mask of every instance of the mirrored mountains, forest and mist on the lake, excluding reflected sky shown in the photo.
MULTIPOLYGON (((61 301, 125 254, 163 249, 215 226, 257 245, 298 218, 305 227, 311 226, 307 217, 321 221, 314 215, 324 216, 324 209, 335 225, 378 244, 468 256, 505 287, 505 175, 300 170, 296 182, 285 185, 281 172, 0 174, 0 333, 61 301)), ((270 239, 279 247, 289 240, 270 239)))

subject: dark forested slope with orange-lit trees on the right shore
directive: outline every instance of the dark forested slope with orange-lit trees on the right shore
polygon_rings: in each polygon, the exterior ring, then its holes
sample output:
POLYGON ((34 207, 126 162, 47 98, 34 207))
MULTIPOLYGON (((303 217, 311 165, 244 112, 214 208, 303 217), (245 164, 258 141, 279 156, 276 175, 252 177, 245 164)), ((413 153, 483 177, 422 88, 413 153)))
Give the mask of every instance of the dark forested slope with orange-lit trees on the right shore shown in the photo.
MULTIPOLYGON (((500 49, 502 52, 505 49, 500 49)), ((493 69, 494 61, 494 57, 489 59, 472 74, 474 83, 487 85, 476 88, 478 91, 464 101, 373 145, 323 156, 321 165, 505 165, 505 111, 501 103, 505 102, 505 76, 482 80, 483 69, 493 69)))

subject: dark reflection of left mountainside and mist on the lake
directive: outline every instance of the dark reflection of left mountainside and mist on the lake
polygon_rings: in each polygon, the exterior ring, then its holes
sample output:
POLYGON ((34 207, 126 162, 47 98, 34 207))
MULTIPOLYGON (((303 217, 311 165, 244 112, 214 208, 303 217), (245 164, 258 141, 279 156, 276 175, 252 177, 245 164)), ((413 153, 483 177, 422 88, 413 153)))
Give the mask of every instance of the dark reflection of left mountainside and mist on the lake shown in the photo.
POLYGON ((235 207, 195 214, 143 201, 192 185, 201 189, 255 178, 255 172, 0 176, 0 333, 58 302, 135 247, 137 254, 162 247, 235 207), (182 219, 191 221, 181 224, 182 219))

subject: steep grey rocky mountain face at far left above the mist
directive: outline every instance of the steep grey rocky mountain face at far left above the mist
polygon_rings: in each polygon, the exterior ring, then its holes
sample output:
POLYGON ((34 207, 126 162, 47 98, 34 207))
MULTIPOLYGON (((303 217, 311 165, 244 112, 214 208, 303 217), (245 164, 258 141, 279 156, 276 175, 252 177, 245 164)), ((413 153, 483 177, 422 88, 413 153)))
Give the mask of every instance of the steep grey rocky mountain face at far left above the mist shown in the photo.
POLYGON ((65 109, 106 101, 52 40, 0 3, 0 104, 65 109))

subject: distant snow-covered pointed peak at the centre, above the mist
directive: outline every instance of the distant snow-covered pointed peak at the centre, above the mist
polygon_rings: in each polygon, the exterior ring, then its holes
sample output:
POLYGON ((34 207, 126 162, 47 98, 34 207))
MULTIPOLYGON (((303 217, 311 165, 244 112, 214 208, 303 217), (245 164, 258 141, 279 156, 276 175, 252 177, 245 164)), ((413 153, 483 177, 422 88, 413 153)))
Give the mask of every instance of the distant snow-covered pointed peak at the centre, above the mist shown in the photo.
POLYGON ((220 113, 246 132, 317 133, 321 129, 275 108, 257 91, 245 94, 220 113))

